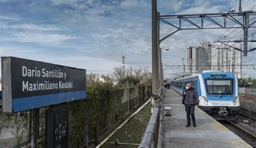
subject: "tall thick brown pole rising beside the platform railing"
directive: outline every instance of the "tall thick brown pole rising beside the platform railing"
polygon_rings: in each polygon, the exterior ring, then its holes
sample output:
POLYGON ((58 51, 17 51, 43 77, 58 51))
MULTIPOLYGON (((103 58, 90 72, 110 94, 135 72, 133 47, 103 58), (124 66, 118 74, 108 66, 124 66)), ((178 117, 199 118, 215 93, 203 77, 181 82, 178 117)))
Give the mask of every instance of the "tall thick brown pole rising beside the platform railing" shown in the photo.
POLYGON ((152 0, 152 93, 158 90, 157 0, 152 0))

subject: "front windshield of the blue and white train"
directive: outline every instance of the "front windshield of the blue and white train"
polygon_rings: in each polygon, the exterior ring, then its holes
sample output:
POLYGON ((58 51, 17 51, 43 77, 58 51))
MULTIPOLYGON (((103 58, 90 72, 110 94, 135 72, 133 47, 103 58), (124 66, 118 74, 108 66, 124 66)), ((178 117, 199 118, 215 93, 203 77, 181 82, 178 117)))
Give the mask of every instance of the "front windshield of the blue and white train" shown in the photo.
POLYGON ((209 95, 231 95, 232 79, 206 79, 206 89, 209 95))

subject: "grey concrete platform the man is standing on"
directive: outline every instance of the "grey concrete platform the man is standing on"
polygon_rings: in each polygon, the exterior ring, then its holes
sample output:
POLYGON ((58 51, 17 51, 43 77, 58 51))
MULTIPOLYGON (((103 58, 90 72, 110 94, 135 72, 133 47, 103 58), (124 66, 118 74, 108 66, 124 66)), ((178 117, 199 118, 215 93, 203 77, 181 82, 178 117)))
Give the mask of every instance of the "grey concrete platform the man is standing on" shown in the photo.
POLYGON ((171 89, 164 94, 164 107, 172 107, 171 116, 164 116, 164 147, 251 147, 199 108, 195 108, 197 127, 186 128, 186 111, 181 99, 171 89))

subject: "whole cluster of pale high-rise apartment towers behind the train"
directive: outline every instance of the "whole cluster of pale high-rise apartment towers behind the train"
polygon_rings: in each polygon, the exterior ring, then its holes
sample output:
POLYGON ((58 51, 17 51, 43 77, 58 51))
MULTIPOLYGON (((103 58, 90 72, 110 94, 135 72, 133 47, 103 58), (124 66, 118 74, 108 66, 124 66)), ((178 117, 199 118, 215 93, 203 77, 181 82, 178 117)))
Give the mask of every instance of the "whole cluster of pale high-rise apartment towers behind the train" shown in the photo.
POLYGON ((241 77, 241 49, 240 43, 213 43, 206 41, 200 46, 187 48, 187 73, 200 72, 206 69, 217 69, 225 72, 233 72, 241 77))

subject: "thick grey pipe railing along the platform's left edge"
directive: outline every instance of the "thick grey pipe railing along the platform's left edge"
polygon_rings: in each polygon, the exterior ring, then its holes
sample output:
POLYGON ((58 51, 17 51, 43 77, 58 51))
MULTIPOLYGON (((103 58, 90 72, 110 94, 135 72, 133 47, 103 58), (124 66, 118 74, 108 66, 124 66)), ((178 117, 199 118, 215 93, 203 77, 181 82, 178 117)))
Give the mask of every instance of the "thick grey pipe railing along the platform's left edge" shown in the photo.
POLYGON ((140 142, 140 148, 150 148, 150 147, 161 147, 161 134, 162 134, 162 119, 163 119, 163 94, 162 90, 159 90, 159 93, 154 100, 154 108, 152 115, 147 124, 147 128, 144 132, 142 141, 140 142))

